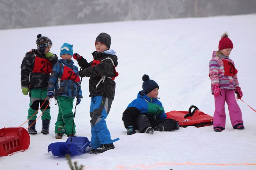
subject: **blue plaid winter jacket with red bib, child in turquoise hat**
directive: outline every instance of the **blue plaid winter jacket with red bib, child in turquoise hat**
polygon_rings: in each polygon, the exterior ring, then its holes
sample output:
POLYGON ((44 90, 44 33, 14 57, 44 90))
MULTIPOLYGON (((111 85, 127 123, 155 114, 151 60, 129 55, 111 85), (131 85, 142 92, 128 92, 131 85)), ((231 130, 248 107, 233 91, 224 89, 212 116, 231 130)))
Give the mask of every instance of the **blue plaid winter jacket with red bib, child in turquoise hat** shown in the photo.
MULTIPOLYGON (((67 73, 65 72, 65 73, 67 73)), ((58 96, 65 96, 68 98, 75 98, 74 96, 77 96, 78 98, 83 98, 82 96, 82 90, 80 86, 80 79, 78 76, 78 68, 74 65, 74 61, 72 60, 62 60, 60 59, 52 68, 52 73, 49 79, 48 83, 48 91, 54 91, 54 97, 55 99, 58 96), (67 70, 68 77, 66 76, 66 79, 64 74, 64 66, 70 68, 73 70, 73 74, 71 70, 67 70), (62 80, 64 79, 64 80, 62 80), (77 82, 76 82, 76 81, 77 82), (78 92, 79 90, 79 92, 78 92)))

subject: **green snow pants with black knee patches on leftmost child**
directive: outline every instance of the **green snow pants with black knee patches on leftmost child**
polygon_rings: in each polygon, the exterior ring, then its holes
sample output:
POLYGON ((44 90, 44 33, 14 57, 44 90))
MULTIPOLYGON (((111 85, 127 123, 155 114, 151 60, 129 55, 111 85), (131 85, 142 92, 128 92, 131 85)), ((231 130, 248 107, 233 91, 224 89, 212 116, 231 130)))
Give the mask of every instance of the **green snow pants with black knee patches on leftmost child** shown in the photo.
MULTIPOLYGON (((41 106, 40 110, 42 112, 44 111, 44 109, 49 103, 49 98, 47 98, 47 89, 41 89, 41 88, 31 89, 29 93, 29 97, 30 97, 30 103, 29 103, 29 109, 28 109, 28 119, 32 115, 34 115, 34 113, 38 110, 39 103, 41 106), (44 102, 46 98, 47 100, 44 102)), ((37 113, 30 120, 36 120, 37 113)), ((45 120, 45 119, 51 120, 50 106, 48 106, 45 109, 41 118, 42 120, 45 120)))

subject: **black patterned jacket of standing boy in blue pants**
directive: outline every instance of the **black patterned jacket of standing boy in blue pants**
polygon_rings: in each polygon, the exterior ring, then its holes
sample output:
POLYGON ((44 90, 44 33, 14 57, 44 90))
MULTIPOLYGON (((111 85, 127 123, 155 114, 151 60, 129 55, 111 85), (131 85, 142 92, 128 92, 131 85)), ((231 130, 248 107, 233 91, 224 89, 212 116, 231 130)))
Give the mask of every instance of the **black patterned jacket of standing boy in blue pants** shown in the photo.
POLYGON ((115 77, 117 66, 117 56, 113 50, 107 50, 102 53, 94 51, 92 53, 93 61, 100 61, 99 64, 95 62, 87 62, 83 57, 78 60, 79 66, 83 69, 79 72, 81 77, 90 77, 89 91, 90 96, 103 96, 114 100, 116 83, 111 78, 115 77), (110 58, 110 59, 107 59, 110 58), (103 76, 105 77, 105 80, 103 76))

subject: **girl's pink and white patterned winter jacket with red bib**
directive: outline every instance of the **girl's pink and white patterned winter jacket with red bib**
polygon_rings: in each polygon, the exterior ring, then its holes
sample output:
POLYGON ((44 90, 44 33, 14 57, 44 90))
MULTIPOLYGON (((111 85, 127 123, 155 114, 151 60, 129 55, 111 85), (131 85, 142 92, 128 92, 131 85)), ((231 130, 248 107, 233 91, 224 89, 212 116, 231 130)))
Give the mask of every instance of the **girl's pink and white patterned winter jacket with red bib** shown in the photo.
MULTIPOLYGON (((234 62, 224 56, 216 56, 216 51, 212 53, 212 60, 209 62, 209 76, 214 83, 220 84, 220 89, 236 89, 239 86, 237 81, 237 70, 234 62)), ((213 89, 212 89, 213 94, 213 89)))

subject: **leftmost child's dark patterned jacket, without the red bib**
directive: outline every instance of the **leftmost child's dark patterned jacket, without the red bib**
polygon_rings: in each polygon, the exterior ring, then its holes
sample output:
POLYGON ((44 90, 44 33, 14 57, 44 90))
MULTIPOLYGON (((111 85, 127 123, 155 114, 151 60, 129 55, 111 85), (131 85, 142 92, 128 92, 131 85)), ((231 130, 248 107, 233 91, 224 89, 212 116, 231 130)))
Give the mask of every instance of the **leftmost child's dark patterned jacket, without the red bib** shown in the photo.
MULTIPOLYGON (((26 53, 26 56, 22 60, 22 63, 20 66, 21 87, 28 87, 29 89, 33 89, 33 88, 47 89, 50 74, 33 72, 35 58, 36 58, 35 54, 39 58, 49 60, 48 58, 45 57, 45 54, 39 54, 36 49, 32 49, 30 52, 26 53)), ((50 61, 52 64, 52 67, 57 61, 58 61, 58 57, 55 54, 54 58, 50 61)))

